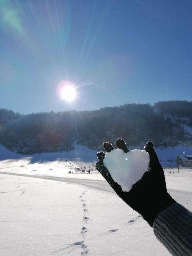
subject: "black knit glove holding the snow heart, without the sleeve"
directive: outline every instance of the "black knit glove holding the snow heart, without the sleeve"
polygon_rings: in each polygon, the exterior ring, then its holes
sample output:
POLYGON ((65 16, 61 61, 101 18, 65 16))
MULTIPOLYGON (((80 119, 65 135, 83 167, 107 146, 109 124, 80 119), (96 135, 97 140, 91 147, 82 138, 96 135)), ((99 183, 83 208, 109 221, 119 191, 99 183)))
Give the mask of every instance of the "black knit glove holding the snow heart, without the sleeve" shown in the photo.
MULTIPOLYGON (((117 139, 116 146, 125 153, 129 152, 122 139, 117 139)), ((110 152, 114 149, 112 144, 108 142, 104 143, 104 148, 106 152, 110 152)), ((122 191, 121 186, 111 177, 108 169, 104 166, 103 160, 105 154, 102 151, 97 154, 99 162, 96 163, 96 169, 111 185, 117 195, 121 197, 127 205, 139 212, 152 227, 158 214, 168 206, 176 203, 176 201, 172 199, 167 192, 164 172, 151 141, 146 143, 144 150, 146 150, 150 156, 148 170, 144 173, 143 177, 132 186, 129 192, 122 191)))

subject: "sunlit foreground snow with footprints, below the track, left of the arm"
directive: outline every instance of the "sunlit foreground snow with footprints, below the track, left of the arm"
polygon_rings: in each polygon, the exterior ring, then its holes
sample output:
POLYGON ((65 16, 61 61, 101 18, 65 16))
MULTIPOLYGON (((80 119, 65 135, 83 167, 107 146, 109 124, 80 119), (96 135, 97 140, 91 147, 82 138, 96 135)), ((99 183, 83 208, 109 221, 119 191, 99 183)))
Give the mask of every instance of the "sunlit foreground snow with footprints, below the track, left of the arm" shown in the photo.
POLYGON ((170 255, 113 192, 36 177, 0 178, 3 256, 170 255))

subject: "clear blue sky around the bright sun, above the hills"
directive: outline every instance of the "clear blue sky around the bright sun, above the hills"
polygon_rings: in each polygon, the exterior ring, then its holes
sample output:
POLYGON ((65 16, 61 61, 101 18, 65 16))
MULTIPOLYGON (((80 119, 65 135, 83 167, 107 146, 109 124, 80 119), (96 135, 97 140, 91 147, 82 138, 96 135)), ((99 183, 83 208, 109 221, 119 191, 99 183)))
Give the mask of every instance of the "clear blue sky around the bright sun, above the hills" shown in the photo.
POLYGON ((0 108, 192 100, 191 0, 0 0, 0 19, 0 108))

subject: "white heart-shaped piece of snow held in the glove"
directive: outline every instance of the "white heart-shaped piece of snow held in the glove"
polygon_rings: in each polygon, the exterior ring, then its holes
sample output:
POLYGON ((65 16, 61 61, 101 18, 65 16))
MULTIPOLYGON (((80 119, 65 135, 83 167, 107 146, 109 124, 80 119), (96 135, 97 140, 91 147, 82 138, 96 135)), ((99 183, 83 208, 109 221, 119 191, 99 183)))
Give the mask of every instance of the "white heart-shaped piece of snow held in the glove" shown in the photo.
POLYGON ((149 161, 149 154, 145 150, 134 149, 125 153, 122 149, 113 149, 106 153, 103 163, 113 180, 123 191, 129 192, 147 171, 149 161))

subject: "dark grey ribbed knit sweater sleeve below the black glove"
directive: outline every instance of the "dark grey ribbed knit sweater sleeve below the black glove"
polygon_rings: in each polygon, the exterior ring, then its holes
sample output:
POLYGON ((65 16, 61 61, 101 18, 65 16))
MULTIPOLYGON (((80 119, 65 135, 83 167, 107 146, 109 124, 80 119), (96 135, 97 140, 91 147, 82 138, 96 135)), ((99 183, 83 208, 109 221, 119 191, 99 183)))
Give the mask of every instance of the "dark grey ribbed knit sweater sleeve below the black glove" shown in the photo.
POLYGON ((160 212, 153 231, 172 255, 192 255, 192 212, 182 205, 174 203, 160 212))

